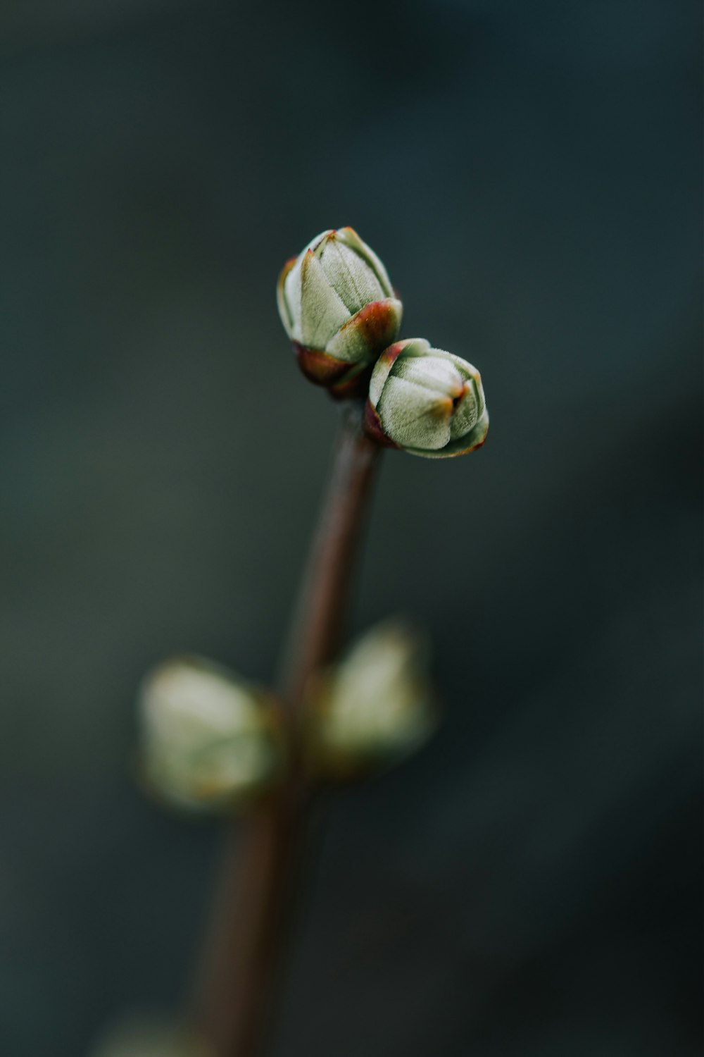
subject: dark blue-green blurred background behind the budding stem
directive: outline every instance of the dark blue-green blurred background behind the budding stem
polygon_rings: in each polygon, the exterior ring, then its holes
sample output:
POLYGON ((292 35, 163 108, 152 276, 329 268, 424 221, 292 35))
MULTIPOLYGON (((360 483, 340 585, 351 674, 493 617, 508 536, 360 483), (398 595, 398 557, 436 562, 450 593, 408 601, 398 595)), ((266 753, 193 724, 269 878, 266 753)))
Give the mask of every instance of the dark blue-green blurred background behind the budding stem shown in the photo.
POLYGON ((350 632, 445 722, 339 797, 275 1057, 691 1057, 701 8, 3 0, 0 1050, 178 1004, 220 831, 133 787, 142 671, 275 666, 336 429, 277 317, 351 224, 480 367, 384 461, 350 632))

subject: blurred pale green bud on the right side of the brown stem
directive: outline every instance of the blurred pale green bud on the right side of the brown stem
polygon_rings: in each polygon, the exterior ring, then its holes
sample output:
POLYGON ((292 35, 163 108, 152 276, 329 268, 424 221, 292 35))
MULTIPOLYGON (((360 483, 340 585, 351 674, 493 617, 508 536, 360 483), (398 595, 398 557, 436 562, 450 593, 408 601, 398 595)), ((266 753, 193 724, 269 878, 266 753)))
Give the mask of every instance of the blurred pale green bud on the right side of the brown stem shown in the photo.
POLYGON ((346 777, 407 756, 432 734, 426 645, 399 620, 368 631, 315 688, 308 744, 318 772, 346 777))

